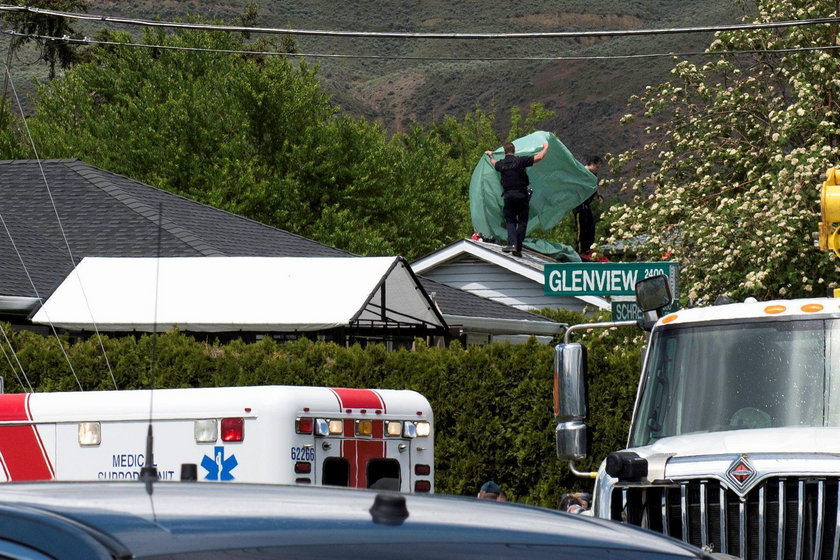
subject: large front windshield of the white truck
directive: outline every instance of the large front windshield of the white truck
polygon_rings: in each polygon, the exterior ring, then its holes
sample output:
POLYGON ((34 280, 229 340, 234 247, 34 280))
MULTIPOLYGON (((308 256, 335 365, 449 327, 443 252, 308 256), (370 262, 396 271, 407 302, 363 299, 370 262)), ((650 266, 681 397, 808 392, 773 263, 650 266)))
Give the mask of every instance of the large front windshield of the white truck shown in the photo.
POLYGON ((840 426, 838 360, 834 319, 664 327, 651 338, 630 445, 698 432, 840 426))

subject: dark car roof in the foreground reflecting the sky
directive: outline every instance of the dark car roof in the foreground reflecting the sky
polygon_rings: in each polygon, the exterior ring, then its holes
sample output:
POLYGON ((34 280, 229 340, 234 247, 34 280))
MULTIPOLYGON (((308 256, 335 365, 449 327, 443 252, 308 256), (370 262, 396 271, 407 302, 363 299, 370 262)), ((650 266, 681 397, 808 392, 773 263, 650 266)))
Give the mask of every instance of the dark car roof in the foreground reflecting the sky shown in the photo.
POLYGON ((320 487, 173 482, 150 496, 137 482, 9 483, 0 519, 0 540, 40 535, 38 546, 63 547, 62 558, 96 557, 68 544, 72 530, 126 558, 218 558, 231 548, 247 558, 708 558, 652 532, 542 508, 320 487))

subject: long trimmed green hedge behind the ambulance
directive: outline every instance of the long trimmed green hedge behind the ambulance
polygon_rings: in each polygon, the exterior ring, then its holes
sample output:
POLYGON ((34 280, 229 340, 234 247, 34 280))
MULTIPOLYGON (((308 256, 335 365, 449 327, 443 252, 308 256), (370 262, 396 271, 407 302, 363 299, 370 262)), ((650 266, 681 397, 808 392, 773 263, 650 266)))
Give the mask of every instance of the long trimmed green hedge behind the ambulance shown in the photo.
MULTIPOLYGON (((268 337, 251 344, 208 344, 172 331, 103 335, 103 355, 96 337, 72 343, 62 338, 71 371, 56 337, 4 328, 36 391, 75 391, 79 384, 86 391, 113 390, 115 383, 120 389, 263 384, 413 389, 429 399, 435 414, 438 492, 474 495, 492 479, 511 500, 556 507, 564 492, 591 489, 591 481, 571 475, 556 457, 553 345, 534 339, 469 348, 457 342, 430 348, 418 341, 413 350, 387 351, 381 344, 348 348, 306 339, 279 343, 268 337)), ((625 444, 640 344, 633 329, 583 338, 590 360, 594 452, 578 466, 593 468, 625 444)), ((2 344, 6 359, 0 362, 0 375, 7 390, 24 391, 27 381, 6 341, 2 344)))

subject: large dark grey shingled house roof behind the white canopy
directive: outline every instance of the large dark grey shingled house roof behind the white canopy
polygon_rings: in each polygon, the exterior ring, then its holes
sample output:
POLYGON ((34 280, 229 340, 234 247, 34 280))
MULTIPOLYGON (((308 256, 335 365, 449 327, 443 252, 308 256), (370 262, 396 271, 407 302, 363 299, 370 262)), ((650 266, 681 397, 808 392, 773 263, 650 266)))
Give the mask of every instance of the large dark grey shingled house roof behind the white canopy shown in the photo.
POLYGON ((354 256, 76 159, 0 161, 0 199, 3 296, 46 297, 85 256, 354 256))

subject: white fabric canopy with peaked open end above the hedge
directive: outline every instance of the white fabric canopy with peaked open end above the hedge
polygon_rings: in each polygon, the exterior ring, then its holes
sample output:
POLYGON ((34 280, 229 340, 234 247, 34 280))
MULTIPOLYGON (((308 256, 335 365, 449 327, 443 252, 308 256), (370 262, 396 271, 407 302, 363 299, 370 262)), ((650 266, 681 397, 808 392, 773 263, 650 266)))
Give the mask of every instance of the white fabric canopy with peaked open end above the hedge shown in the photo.
POLYGON ((86 257, 32 321, 144 332, 446 328, 402 257, 86 257))

